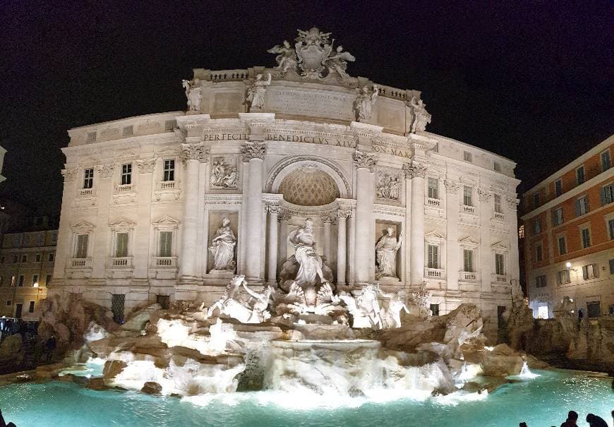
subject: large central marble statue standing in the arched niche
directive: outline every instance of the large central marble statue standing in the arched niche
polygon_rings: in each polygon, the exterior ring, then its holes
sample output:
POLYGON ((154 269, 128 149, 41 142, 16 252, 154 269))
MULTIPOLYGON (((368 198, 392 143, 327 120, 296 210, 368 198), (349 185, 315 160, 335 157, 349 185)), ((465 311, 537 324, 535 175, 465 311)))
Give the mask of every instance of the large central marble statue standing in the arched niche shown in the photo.
POLYGON ((288 242, 294 247, 294 257, 300 265, 294 281, 299 286, 313 286, 319 277, 320 283, 324 284, 326 279, 322 272, 322 258, 315 251, 315 234, 311 218, 305 219, 304 227, 298 227, 288 234, 288 242))

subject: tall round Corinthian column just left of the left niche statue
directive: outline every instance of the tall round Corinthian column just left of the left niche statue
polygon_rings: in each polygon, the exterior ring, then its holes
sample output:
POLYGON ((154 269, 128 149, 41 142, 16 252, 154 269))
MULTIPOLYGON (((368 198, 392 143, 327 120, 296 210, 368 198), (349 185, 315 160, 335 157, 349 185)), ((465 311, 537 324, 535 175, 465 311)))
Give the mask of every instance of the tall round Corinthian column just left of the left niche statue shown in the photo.
POLYGON ((198 231, 198 164, 207 161, 209 148, 202 144, 181 144, 181 161, 186 165, 186 193, 183 197, 183 221, 179 274, 181 280, 196 278, 196 233, 198 231))

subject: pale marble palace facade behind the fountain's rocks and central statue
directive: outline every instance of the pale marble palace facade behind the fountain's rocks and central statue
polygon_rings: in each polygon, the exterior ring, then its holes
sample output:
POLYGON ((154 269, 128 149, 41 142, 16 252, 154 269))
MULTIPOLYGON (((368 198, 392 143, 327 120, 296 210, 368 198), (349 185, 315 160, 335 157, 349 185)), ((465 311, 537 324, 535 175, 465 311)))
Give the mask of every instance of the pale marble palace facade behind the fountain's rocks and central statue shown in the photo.
POLYGON ((420 92, 350 77, 310 34, 325 35, 304 32, 298 57, 277 47, 276 68, 195 69, 187 112, 69 131, 54 291, 106 306, 124 294, 130 311, 158 295, 209 305, 235 273, 277 287, 288 235, 311 218, 337 289, 377 275, 407 294, 426 282, 440 314, 508 305, 519 279, 514 162, 423 131, 420 92), (301 62, 306 49, 328 66, 301 62), (259 75, 271 79, 254 106, 259 75), (225 246, 212 241, 220 227, 225 246), (388 232, 400 244, 393 267, 387 245, 383 275, 376 243, 388 232))

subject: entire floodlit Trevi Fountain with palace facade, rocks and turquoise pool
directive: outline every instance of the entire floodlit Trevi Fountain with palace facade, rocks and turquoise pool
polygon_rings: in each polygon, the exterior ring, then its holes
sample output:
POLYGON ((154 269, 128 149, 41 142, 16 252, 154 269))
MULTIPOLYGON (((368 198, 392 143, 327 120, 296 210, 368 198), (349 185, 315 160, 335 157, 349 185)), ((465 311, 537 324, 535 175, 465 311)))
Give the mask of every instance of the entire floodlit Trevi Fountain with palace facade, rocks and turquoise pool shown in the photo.
MULTIPOLYGON (((58 363, 2 378, 7 420, 550 426, 585 408, 607 419, 606 374, 523 351, 536 329, 518 284, 513 162, 428 133, 419 92, 349 76, 355 58, 334 41, 299 31, 269 50, 272 68, 195 70, 185 113, 71 131, 39 327, 58 363), (140 140, 120 148, 118 126, 140 140), (137 165, 136 185, 111 184, 114 162, 137 165), (94 186, 80 185, 83 169, 94 186)), ((18 350, 3 343, 0 356, 18 350)))

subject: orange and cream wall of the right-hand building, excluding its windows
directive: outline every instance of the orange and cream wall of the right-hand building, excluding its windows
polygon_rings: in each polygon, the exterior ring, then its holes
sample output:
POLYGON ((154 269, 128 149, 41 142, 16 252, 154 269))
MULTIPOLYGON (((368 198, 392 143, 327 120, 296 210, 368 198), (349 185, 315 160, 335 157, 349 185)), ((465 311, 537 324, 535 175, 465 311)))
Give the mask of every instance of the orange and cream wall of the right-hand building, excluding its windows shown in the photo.
MULTIPOLYGON (((523 215, 526 239, 526 279, 529 284, 529 300, 538 315, 539 306, 548 306, 549 315, 565 296, 574 299, 577 309, 586 303, 598 301, 601 313, 608 313, 614 306, 614 275, 610 271, 610 260, 614 260, 614 235, 610 235, 608 221, 614 219, 614 203, 603 199, 603 188, 614 184, 614 165, 612 155, 614 136, 596 145, 579 159, 555 172, 548 179, 538 184, 522 197, 522 205, 527 209, 523 215), (602 153, 610 153, 610 167, 602 163, 602 153), (577 182, 577 169, 584 166, 585 181, 577 182), (555 196, 555 181, 561 179, 562 194, 555 196), (546 192, 546 189, 548 191, 546 192), (541 202, 534 204, 534 194, 540 194, 541 202), (589 211, 577 215, 577 200, 586 196, 589 211), (562 224, 554 224, 555 210, 562 209, 562 224), (543 231, 535 235, 534 222, 541 219, 543 231), (590 230, 591 245, 582 246, 582 229, 590 230), (558 239, 565 238, 565 253, 560 253, 558 239), (536 246, 541 243, 544 248, 543 261, 535 258, 536 246), (548 248, 548 256, 546 256, 548 248), (570 267, 567 267, 570 263, 570 267), (582 267, 597 265, 598 277, 584 278, 582 267), (567 270, 570 283, 561 282, 559 272, 567 270), (536 287, 536 277, 545 275, 546 287, 536 287)), ((612 261, 614 263, 614 261, 612 261)), ((561 273, 563 275, 567 273, 561 273)), ((563 279, 565 281, 565 279, 563 279)))

